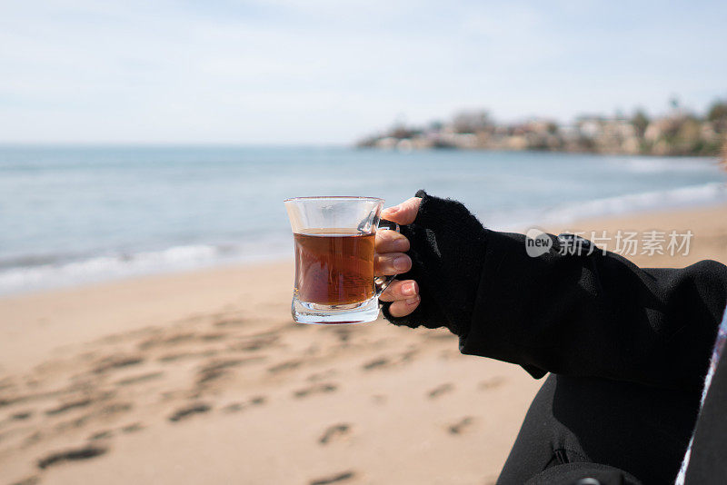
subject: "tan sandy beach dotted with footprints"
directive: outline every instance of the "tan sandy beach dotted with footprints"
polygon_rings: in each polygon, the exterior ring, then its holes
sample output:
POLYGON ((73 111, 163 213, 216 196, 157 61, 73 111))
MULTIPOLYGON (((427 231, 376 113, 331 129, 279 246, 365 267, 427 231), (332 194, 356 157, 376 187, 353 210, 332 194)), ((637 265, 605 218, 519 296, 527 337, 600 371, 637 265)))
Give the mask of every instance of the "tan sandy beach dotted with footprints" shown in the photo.
MULTIPOLYGON (((544 229, 690 230, 630 259, 727 262, 727 206, 544 229)), ((296 325, 292 272, 0 299, 0 484, 492 483, 540 382, 442 330, 296 325)))

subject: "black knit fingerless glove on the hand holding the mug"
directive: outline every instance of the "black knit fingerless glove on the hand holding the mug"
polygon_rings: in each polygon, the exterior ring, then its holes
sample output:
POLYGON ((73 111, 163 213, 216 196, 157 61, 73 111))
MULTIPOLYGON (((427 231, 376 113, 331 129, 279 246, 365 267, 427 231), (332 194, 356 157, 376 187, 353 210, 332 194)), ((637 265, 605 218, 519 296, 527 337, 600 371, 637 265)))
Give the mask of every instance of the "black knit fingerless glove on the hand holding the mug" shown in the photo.
POLYGON ((483 271, 485 230, 462 203, 428 195, 423 190, 419 213, 402 233, 411 248, 412 269, 400 280, 419 283, 419 306, 405 317, 393 317, 391 302, 383 302, 383 316, 395 325, 430 329, 446 327, 466 334, 483 271))

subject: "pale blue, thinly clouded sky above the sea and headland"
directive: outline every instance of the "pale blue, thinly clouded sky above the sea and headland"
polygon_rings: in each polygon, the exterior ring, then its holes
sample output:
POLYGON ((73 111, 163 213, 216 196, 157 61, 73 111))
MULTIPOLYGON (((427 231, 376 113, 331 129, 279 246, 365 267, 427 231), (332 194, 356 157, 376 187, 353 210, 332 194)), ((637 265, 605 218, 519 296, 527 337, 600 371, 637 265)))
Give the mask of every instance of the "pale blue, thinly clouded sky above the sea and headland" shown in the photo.
POLYGON ((351 144, 394 122, 703 112, 727 2, 0 0, 0 143, 351 144))

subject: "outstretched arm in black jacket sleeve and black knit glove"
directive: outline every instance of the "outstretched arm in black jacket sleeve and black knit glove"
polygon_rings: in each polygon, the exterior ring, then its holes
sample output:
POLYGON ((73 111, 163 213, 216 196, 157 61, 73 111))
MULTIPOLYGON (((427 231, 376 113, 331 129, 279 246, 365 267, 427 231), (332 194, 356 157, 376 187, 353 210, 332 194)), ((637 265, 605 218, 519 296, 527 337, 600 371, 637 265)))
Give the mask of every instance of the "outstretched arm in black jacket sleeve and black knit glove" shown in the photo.
POLYGON ((393 318, 446 327, 466 354, 546 372, 700 389, 727 302, 727 267, 641 269, 621 256, 550 251, 531 257, 525 236, 498 233, 461 203, 423 191, 403 228, 422 302, 393 318))

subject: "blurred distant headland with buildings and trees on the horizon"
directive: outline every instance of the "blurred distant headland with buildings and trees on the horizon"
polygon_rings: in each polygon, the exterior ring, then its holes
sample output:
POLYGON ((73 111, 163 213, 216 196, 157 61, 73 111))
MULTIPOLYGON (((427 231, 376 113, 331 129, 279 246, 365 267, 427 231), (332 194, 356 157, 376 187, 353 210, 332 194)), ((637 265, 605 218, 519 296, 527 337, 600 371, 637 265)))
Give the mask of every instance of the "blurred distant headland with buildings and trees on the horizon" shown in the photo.
POLYGON ((463 112, 449 122, 397 123, 356 146, 403 151, 451 148, 727 156, 726 101, 714 102, 702 115, 682 109, 676 101, 671 104, 670 112, 660 117, 650 118, 637 110, 631 116, 582 115, 571 124, 547 118, 498 124, 486 111, 463 112))

